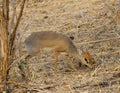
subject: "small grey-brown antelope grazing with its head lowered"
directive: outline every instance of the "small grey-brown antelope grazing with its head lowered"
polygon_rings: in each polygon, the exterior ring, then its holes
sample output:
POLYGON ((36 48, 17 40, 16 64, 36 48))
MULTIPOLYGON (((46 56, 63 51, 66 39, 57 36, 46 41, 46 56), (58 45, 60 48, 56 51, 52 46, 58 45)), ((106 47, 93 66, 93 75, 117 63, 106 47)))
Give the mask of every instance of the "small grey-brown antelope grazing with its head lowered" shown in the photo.
POLYGON ((69 64, 75 71, 77 71, 77 69, 72 64, 72 58, 79 59, 83 64, 90 68, 93 64, 92 58, 88 51, 83 52, 83 55, 80 56, 76 46, 69 37, 53 31, 33 32, 28 38, 26 38, 25 48, 30 56, 38 54, 43 48, 51 48, 53 51, 53 57, 55 59, 55 74, 57 72, 58 56, 61 52, 67 53, 69 64))

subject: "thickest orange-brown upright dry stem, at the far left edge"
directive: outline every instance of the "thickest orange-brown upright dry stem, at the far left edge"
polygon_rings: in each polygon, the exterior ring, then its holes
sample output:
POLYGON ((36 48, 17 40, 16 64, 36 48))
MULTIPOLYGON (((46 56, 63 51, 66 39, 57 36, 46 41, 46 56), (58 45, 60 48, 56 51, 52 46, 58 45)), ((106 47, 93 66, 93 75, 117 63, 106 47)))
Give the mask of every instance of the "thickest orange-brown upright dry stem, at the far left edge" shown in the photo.
MULTIPOLYGON (((3 0, 3 8, 0 10, 1 33, 3 34, 4 57, 2 64, 2 81, 7 81, 7 67, 9 62, 9 45, 8 45, 8 23, 9 23, 9 0, 3 0)), ((3 85, 3 90, 7 89, 7 84, 3 85)))

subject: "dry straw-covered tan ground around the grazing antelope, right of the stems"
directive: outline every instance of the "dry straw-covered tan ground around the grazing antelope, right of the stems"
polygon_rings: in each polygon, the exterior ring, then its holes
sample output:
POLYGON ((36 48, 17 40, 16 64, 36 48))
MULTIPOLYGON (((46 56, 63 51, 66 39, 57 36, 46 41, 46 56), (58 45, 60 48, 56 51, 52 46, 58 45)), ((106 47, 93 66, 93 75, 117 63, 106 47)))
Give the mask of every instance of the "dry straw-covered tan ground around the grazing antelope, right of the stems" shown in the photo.
MULTIPOLYGON (((78 50, 89 50, 95 64, 90 69, 74 63, 76 74, 61 54, 54 76, 52 54, 43 50, 30 59, 29 92, 16 87, 13 93, 120 93, 119 6, 120 0, 28 0, 18 28, 21 45, 32 32, 56 31, 74 36, 78 50)), ((25 82, 16 65, 11 78, 25 82)))

